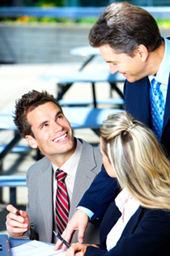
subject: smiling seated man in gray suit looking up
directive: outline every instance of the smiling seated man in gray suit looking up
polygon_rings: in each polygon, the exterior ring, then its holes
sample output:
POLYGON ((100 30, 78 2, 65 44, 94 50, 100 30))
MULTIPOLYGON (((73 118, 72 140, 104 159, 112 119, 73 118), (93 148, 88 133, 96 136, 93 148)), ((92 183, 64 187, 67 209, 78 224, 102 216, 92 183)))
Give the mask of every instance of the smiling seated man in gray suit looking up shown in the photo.
MULTIPOLYGON (((84 192, 100 172, 100 150, 83 139, 76 139, 70 122, 62 113, 57 100, 47 92, 24 94, 15 105, 15 125, 32 148, 45 156, 33 164, 27 173, 28 205, 19 211, 12 205, 6 208, 6 229, 12 237, 29 237, 56 242, 53 230, 56 223, 56 172, 66 173, 65 185, 69 199, 69 220, 84 192)), ((86 242, 98 242, 98 228, 89 226, 86 242)), ((77 235, 72 241, 77 241, 77 235)))

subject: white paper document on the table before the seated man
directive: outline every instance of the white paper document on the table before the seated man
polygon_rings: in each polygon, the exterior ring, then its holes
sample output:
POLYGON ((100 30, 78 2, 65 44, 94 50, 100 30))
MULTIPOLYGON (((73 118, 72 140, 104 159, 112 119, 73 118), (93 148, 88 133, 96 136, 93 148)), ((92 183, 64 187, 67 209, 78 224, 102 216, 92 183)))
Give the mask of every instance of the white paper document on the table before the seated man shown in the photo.
POLYGON ((33 240, 11 248, 11 256, 65 256, 65 252, 62 250, 54 251, 53 247, 54 245, 33 240))

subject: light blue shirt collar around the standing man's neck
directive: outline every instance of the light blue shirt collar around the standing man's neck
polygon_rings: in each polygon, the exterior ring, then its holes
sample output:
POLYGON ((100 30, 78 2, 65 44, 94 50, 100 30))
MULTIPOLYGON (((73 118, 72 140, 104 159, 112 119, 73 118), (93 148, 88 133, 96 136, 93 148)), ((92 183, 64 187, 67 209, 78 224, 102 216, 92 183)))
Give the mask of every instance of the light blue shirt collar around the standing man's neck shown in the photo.
POLYGON ((153 78, 155 78, 155 80, 158 81, 159 83, 162 83, 168 86, 169 70, 170 70, 170 62, 169 62, 170 41, 166 37, 163 37, 163 39, 165 43, 164 58, 160 63, 158 73, 155 76, 149 75, 148 78, 150 82, 153 78))

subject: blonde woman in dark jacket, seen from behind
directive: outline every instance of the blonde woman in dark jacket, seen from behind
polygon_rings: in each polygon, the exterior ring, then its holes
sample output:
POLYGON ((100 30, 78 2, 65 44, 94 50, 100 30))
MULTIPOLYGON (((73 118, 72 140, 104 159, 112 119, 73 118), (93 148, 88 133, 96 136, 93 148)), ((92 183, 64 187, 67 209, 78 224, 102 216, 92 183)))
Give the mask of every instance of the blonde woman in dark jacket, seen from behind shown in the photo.
POLYGON ((76 243, 66 256, 168 256, 170 163, 155 134, 126 112, 110 115, 100 129, 100 151, 121 192, 101 222, 100 245, 76 243))

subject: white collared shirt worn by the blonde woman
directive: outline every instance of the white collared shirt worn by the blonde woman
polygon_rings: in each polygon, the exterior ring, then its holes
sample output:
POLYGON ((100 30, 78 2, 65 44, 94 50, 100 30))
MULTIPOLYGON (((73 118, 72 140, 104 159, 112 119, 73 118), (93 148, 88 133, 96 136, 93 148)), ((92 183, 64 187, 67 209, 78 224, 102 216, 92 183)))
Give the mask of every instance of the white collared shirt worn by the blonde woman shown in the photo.
POLYGON ((127 192, 126 189, 121 190, 121 192, 115 198, 115 203, 119 211, 121 211, 121 217, 117 220, 117 223, 108 233, 106 239, 107 250, 113 249, 117 245, 117 241, 121 237, 125 225, 130 220, 131 216, 134 215, 135 211, 138 210, 139 203, 134 200, 127 192))

